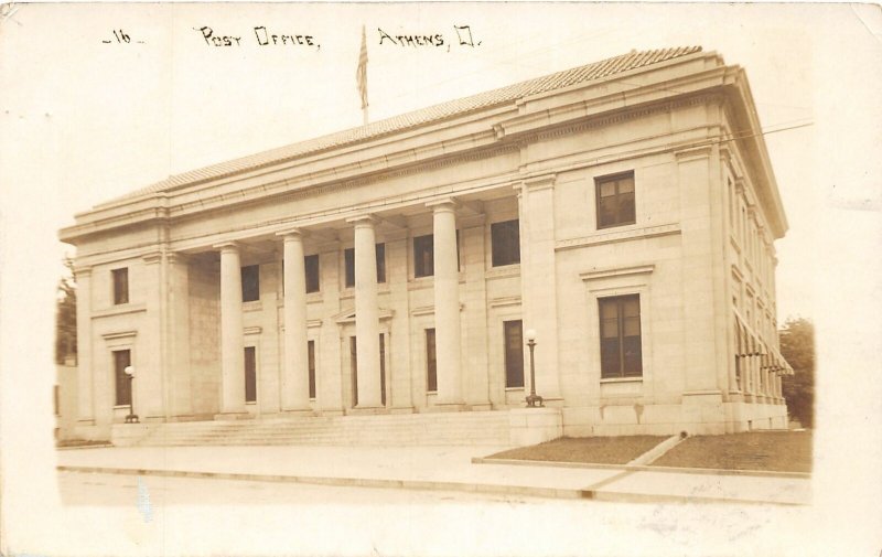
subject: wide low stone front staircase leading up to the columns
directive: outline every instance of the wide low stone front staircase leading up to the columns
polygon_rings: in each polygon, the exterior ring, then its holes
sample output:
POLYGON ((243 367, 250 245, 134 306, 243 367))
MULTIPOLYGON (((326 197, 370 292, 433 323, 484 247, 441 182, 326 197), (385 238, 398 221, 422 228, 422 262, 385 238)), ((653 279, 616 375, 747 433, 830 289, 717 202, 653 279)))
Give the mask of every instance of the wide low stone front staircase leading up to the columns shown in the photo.
POLYGON ((507 411, 283 417, 114 427, 116 446, 508 446, 507 411), (136 426, 137 427, 137 426, 136 426))

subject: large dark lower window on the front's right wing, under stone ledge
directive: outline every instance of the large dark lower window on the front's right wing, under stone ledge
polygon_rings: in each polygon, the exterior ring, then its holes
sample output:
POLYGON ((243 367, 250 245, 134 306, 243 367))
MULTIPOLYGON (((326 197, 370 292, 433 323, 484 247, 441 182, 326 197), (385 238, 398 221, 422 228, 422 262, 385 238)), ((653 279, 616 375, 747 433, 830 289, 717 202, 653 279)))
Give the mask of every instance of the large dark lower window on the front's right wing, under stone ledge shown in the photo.
POLYGON ((639 294, 601 298, 601 377, 643 375, 639 294))

